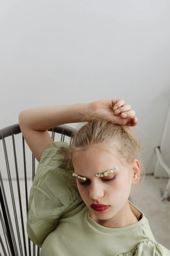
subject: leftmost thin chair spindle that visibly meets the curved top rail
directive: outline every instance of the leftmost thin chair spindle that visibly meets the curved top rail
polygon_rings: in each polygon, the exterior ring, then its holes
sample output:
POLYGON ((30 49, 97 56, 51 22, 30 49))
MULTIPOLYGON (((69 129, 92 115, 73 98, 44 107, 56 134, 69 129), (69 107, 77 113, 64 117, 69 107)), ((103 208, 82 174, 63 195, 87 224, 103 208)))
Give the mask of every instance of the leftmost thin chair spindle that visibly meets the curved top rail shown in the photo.
POLYGON ((10 186, 10 192, 11 192, 14 216, 15 216, 15 224, 16 224, 16 228, 17 228, 17 235, 18 235, 18 242, 19 242, 19 247, 20 247, 20 253, 21 253, 21 256, 23 256, 22 246, 21 246, 20 230, 19 230, 18 218, 17 218, 17 211, 16 211, 16 206, 15 206, 15 199, 14 199, 14 193, 13 193, 12 182, 11 182, 9 162, 8 162, 8 157, 7 157, 7 148, 6 148, 6 144, 5 144, 5 140, 4 140, 3 136, 2 136, 2 141, 3 141, 3 146, 4 146, 5 160, 6 160, 6 166, 7 166, 7 174, 8 174, 8 180, 9 180, 9 186, 10 186))

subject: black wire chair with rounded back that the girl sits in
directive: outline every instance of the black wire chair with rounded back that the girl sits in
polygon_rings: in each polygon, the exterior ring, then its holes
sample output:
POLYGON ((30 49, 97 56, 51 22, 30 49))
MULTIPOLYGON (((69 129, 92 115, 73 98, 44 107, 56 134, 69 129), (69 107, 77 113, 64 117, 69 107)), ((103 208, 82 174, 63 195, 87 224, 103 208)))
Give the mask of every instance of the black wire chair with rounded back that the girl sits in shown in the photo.
MULTIPOLYGON (((48 131, 52 132, 52 140, 54 141, 54 135, 55 133, 61 134, 61 141, 64 141, 64 136, 71 137, 73 132, 75 131, 75 128, 72 128, 67 125, 59 125, 54 128, 49 129, 48 131)), ((10 193, 5 192, 3 179, 1 176, 1 169, 0 169, 0 219, 2 224, 2 229, 0 229, 0 244, 2 249, 0 250, 0 256, 4 254, 4 256, 39 256, 40 248, 37 247, 27 236, 26 233, 26 216, 23 216, 23 203, 21 200, 21 189, 20 189, 20 183, 21 180, 19 178, 19 172, 18 172, 18 165, 17 165, 17 157, 16 157, 16 146, 15 146, 15 140, 14 135, 21 133, 21 129, 19 127, 19 124, 15 124, 6 128, 3 128, 0 130, 0 141, 2 140, 3 148, 4 148, 4 154, 5 154, 5 161, 7 166, 7 176, 9 181, 9 188, 10 193), (17 199, 19 200, 19 209, 16 208, 16 195, 14 198, 14 192, 13 192, 13 186, 12 186, 12 179, 10 174, 10 168, 9 168, 9 161, 8 161, 8 155, 7 155, 7 147, 5 138, 12 136, 12 143, 13 143, 13 152, 14 152, 14 161, 15 161, 15 169, 16 169, 16 181, 17 181, 17 189, 18 189, 18 195, 17 199), (9 211, 9 198, 7 194, 11 195, 12 199, 12 206, 13 206, 13 214, 15 218, 15 222, 11 220, 11 214, 9 211), (24 221, 25 218, 25 221, 24 221), (19 227, 19 219, 21 219, 21 223, 19 227), (14 226, 16 228, 16 232, 14 232, 14 226), (22 234, 21 234, 22 233, 22 234), (4 236, 4 237, 3 237, 4 236), (22 236, 22 237, 21 237, 22 236), (16 238, 17 241, 16 241, 16 238), (3 254, 2 254, 3 253, 3 254)), ((24 172, 24 183, 25 183, 25 203, 26 203, 26 213, 28 213, 28 179, 27 179, 27 170, 26 170, 26 156, 25 156, 25 140, 22 136, 22 148, 23 148, 23 160, 24 160, 24 166, 23 166, 23 172, 24 172)), ((0 155, 2 152, 0 153, 0 155)), ((35 156, 32 154, 32 181, 35 176, 35 156)), ((32 182, 31 181, 31 182, 32 182)), ((131 201, 137 208, 137 202, 135 200, 135 197, 130 193, 129 201, 131 201)), ((25 206, 24 206, 25 207, 25 206)), ((25 214, 26 215, 26 214, 25 214)))

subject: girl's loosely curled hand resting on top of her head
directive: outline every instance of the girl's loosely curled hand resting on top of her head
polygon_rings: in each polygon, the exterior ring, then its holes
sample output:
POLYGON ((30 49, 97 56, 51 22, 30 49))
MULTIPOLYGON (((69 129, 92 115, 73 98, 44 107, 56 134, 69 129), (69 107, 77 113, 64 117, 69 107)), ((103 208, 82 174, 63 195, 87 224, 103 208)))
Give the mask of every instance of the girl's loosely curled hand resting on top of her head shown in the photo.
POLYGON ((126 126, 137 125, 138 118, 135 117, 136 112, 131 110, 131 105, 126 105, 124 103, 125 101, 123 99, 101 99, 92 101, 89 104, 93 117, 99 116, 111 122, 123 124, 126 126), (118 108, 115 109, 115 107, 118 108), (118 110, 120 110, 120 113, 117 113, 118 110), (127 114, 127 116, 123 117, 123 113, 127 114))

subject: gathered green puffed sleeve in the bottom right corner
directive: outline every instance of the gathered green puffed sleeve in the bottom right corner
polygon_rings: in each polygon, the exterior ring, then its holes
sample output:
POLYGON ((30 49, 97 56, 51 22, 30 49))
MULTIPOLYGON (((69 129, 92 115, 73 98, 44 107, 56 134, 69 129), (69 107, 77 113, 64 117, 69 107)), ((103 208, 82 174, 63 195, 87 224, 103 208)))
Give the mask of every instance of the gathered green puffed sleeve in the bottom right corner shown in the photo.
POLYGON ((135 248, 119 256, 170 256, 170 251, 155 241, 140 242, 135 248))

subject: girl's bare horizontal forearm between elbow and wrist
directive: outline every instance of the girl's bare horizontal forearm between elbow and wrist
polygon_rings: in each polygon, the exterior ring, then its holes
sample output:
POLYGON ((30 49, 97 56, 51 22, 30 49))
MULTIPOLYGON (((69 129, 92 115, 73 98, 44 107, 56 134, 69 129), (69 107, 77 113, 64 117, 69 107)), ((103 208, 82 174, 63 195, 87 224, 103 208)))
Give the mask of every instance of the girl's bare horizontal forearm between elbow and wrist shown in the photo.
POLYGON ((58 104, 21 111, 19 125, 45 131, 58 125, 81 122, 90 111, 90 103, 58 104))

